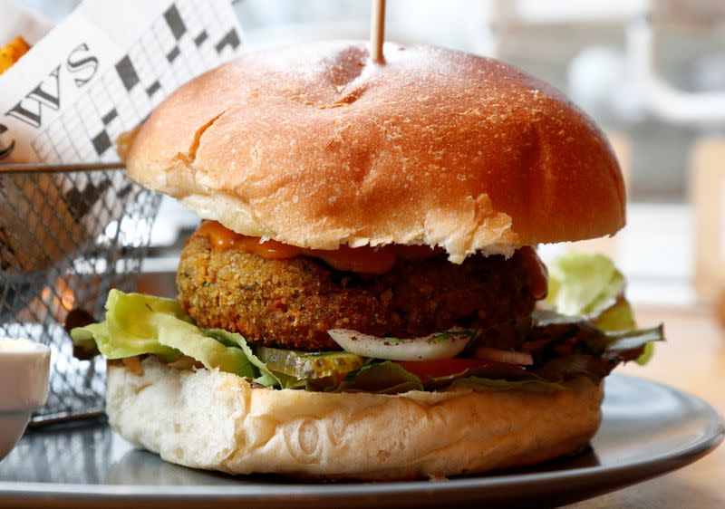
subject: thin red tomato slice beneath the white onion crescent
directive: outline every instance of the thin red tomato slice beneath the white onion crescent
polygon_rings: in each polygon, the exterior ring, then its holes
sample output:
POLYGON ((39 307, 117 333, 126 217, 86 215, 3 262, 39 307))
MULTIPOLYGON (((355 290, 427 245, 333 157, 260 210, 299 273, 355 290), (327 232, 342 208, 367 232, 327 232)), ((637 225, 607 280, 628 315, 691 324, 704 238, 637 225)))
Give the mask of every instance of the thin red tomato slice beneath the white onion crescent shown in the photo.
POLYGON ((528 379, 532 374, 516 364, 479 359, 397 360, 402 368, 421 380, 476 375, 491 379, 528 379))

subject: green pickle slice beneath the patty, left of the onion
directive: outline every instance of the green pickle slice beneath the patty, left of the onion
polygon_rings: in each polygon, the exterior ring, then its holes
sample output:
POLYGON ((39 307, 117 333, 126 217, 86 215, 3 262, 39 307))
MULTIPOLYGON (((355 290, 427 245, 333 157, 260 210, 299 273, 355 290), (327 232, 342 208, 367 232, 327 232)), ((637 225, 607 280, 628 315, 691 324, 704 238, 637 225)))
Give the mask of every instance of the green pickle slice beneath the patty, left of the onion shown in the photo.
POLYGON ((270 370, 295 379, 322 379, 362 368, 365 358, 346 351, 306 352, 260 346, 256 356, 270 370))

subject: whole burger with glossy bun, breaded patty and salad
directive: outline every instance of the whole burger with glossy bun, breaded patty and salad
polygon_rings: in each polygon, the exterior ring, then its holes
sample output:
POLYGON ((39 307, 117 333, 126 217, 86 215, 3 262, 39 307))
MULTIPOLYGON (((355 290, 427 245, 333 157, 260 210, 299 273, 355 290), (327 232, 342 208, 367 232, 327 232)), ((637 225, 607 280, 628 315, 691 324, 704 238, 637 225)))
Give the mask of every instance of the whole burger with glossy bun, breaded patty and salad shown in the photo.
POLYGON ((585 447, 604 376, 661 338, 632 330, 608 261, 569 257, 547 284, 536 255, 624 225, 594 123, 491 59, 385 59, 248 53, 136 133, 129 176, 204 221, 177 300, 113 291, 73 330, 109 359, 107 413, 135 446, 322 479, 527 465, 585 447))

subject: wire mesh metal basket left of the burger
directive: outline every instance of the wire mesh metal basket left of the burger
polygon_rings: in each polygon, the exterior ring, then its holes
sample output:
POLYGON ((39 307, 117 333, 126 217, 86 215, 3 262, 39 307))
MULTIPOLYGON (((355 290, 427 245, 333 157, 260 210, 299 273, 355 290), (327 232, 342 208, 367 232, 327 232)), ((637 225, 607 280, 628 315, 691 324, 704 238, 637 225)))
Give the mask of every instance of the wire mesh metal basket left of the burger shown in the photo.
POLYGON ((0 172, 0 336, 52 351, 35 424, 103 411, 105 360, 73 357, 63 325, 72 309, 101 319, 111 288, 134 288, 159 202, 118 169, 0 172))

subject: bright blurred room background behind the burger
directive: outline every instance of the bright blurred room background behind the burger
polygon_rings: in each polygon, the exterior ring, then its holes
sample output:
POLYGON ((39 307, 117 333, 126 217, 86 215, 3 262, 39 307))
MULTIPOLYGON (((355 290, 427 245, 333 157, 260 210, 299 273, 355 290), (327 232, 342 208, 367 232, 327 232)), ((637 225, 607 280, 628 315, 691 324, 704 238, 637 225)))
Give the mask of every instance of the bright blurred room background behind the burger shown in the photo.
MULTIPOLYGON (((58 22, 77 2, 24 0, 58 22)), ((248 50, 366 39, 361 0, 240 0, 248 50)), ((494 56, 565 91, 607 132, 629 187, 629 224, 577 246, 613 255, 636 303, 717 302, 725 286, 725 2, 388 0, 386 40, 494 56)), ((165 202, 162 270, 196 219, 165 202)), ((568 246, 546 246, 550 256, 568 246)))

